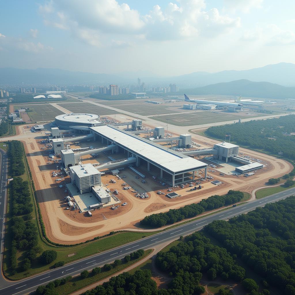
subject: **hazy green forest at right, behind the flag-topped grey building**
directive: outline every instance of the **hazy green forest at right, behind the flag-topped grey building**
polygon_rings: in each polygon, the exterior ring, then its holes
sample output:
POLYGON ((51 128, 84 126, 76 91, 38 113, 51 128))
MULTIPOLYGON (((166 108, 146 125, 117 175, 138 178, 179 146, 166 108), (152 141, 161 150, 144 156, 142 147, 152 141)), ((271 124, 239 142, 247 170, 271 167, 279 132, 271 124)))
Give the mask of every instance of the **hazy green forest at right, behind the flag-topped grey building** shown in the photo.
POLYGON ((279 118, 256 120, 245 123, 213 126, 206 130, 212 137, 224 139, 226 134, 237 144, 250 148, 262 149, 267 152, 295 159, 295 115, 279 118))

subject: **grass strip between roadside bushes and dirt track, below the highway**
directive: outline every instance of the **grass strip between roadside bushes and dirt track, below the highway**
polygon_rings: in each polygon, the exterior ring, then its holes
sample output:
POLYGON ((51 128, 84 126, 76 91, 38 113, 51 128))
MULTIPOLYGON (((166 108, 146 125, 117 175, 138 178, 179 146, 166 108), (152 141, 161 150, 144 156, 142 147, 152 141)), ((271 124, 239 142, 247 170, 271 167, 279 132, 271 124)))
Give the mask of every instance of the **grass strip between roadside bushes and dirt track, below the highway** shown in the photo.
POLYGON ((152 249, 145 250, 144 254, 140 258, 137 258, 135 260, 130 260, 129 262, 124 262, 118 266, 113 267, 109 271, 104 271, 104 269, 102 268, 101 273, 93 275, 90 272, 89 276, 84 279, 81 278, 81 276, 75 276, 71 281, 65 283, 64 285, 60 285, 60 286, 56 287, 54 290, 60 295, 71 294, 75 291, 78 291, 78 290, 83 289, 89 285, 92 285, 98 281, 101 281, 104 278, 112 276, 113 274, 118 273, 119 271, 122 271, 123 269, 142 260, 143 258, 148 256, 150 253, 152 253, 152 251, 153 251, 152 249))

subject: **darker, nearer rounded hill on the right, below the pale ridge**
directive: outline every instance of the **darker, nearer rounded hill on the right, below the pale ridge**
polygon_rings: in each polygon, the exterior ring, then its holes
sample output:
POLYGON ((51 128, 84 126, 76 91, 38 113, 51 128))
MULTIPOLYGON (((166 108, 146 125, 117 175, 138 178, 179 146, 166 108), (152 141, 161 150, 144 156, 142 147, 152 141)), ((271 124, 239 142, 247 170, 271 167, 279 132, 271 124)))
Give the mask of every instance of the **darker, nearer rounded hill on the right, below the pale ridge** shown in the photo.
POLYGON ((235 95, 244 97, 261 97, 267 99, 295 99, 295 87, 285 87, 269 82, 253 82, 246 79, 217 83, 193 89, 179 91, 187 95, 235 95))

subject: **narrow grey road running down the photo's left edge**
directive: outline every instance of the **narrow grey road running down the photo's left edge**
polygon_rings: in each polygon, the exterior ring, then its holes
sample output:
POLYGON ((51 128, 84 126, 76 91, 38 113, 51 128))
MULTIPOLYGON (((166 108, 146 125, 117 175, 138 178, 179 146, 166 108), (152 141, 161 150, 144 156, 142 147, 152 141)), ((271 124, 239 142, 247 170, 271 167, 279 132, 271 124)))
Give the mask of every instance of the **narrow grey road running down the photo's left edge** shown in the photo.
MULTIPOLYGON (((0 149, 0 266, 2 267, 4 252, 4 222, 6 213, 6 193, 7 193, 7 156, 0 149), (2 252, 3 251, 3 252, 2 252)), ((6 283, 3 276, 0 276, 0 286, 6 283)))

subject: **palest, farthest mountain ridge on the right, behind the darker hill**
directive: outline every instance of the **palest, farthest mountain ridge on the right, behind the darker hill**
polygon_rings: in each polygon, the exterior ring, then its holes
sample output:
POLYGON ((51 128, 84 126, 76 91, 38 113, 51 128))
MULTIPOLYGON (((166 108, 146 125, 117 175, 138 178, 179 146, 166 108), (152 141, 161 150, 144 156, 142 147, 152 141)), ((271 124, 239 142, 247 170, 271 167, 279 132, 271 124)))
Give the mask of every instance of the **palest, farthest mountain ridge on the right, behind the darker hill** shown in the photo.
POLYGON ((243 71, 222 71, 217 73, 195 72, 171 78, 171 81, 179 85, 205 86, 220 82, 230 82, 240 79, 260 82, 266 81, 283 86, 295 86, 295 64, 277 63, 266 65, 262 68, 254 68, 243 71))

